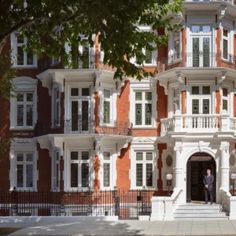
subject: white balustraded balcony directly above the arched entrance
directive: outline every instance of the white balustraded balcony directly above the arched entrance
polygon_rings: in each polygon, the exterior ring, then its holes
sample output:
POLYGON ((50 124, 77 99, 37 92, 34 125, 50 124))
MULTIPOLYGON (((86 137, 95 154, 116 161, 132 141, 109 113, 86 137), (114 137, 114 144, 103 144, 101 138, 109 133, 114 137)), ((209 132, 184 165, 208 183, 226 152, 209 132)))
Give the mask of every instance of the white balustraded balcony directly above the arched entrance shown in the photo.
POLYGON ((236 117, 228 114, 175 114, 161 119, 161 136, 173 133, 236 132, 236 117))

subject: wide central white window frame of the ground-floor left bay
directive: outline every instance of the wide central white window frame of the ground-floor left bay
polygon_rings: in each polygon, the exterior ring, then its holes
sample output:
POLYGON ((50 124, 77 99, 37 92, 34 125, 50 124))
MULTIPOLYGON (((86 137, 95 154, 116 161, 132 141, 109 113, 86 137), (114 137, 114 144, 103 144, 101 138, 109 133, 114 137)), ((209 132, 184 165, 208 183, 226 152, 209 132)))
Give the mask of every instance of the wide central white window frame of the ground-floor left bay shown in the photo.
POLYGON ((93 165, 92 165, 92 152, 90 149, 69 149, 67 152, 67 190, 68 191, 77 191, 82 190, 86 191, 88 189, 93 188, 93 165), (78 160, 71 160, 71 152, 78 152, 78 160), (81 153, 82 152, 89 152, 89 159, 88 160, 81 160, 81 153), (78 187, 71 187, 71 164, 75 163, 78 165, 78 187), (82 163, 89 164, 89 187, 82 187, 82 180, 81 180, 81 166, 82 163))

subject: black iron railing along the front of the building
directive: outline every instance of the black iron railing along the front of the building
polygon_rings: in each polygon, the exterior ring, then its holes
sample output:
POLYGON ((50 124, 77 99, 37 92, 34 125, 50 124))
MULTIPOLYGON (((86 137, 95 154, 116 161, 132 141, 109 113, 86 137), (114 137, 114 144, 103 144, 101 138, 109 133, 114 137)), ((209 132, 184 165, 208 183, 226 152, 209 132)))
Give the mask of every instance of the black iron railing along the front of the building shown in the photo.
POLYGON ((150 215, 153 191, 111 190, 77 192, 0 192, 0 216, 118 216, 150 215))

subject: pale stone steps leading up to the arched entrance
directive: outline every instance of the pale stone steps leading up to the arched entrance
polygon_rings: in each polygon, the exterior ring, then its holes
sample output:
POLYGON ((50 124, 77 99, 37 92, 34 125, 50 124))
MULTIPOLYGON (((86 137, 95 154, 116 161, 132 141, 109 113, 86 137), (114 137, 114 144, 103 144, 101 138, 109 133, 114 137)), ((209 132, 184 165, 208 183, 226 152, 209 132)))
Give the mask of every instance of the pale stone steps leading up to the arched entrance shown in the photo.
POLYGON ((221 208, 219 204, 181 204, 174 211, 174 219, 228 219, 228 216, 225 212, 222 212, 221 208))

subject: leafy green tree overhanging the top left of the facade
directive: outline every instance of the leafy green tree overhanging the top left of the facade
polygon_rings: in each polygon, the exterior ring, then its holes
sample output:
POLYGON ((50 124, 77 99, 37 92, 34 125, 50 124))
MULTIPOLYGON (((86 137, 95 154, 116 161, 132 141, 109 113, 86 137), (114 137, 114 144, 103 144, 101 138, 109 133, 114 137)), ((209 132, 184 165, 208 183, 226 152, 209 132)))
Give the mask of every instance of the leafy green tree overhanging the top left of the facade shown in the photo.
POLYGON ((153 50, 166 43, 159 29, 172 30, 172 19, 181 10, 182 0, 0 0, 0 54, 9 35, 18 31, 27 36, 28 50, 60 58, 70 64, 65 43, 71 48, 76 67, 80 35, 93 43, 94 34, 104 51, 104 63, 115 68, 115 77, 147 73, 130 62, 144 58, 143 48, 153 50), (149 25, 148 32, 138 25, 149 25))

